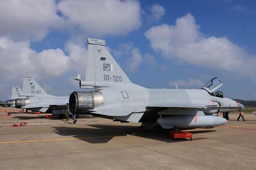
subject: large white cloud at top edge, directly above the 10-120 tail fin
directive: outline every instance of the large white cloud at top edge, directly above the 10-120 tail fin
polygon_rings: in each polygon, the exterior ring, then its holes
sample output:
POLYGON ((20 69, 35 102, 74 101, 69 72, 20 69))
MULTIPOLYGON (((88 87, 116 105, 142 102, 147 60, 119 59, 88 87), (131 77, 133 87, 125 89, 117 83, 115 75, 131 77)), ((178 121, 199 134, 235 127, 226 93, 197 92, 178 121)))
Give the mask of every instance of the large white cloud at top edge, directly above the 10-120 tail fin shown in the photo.
POLYGON ((68 25, 91 35, 126 35, 141 25, 138 1, 65 0, 57 6, 68 25))

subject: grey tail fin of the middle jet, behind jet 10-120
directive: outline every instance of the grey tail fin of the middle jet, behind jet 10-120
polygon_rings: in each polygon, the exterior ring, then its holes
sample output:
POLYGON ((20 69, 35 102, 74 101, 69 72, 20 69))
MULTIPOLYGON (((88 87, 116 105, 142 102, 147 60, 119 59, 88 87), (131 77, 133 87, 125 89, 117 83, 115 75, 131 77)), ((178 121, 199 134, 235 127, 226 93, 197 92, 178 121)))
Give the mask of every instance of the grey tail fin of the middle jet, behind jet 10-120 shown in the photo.
POLYGON ((23 76, 22 95, 46 95, 46 91, 30 75, 23 76))

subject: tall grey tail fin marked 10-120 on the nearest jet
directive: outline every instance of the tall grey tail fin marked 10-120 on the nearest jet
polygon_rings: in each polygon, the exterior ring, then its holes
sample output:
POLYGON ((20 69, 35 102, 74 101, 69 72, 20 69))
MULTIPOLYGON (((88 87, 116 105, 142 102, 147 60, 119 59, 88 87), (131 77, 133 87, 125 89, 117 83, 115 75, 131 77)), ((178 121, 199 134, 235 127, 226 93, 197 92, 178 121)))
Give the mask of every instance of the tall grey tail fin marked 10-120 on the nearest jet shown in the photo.
POLYGON ((106 49, 104 40, 88 38, 87 41, 88 59, 86 62, 85 82, 80 82, 80 86, 91 86, 89 85, 90 83, 131 83, 108 49, 106 49))

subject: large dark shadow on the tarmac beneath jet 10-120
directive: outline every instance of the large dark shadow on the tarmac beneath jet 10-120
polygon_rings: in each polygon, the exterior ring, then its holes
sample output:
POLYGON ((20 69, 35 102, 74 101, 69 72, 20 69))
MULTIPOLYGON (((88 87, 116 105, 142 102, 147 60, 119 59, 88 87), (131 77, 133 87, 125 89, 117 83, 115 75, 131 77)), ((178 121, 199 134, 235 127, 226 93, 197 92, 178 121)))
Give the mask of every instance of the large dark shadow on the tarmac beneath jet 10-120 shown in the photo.
MULTIPOLYGON (((72 124, 71 122, 67 122, 72 124)), ((138 126, 115 126, 115 125, 88 125, 92 128, 76 128, 74 127, 55 127, 55 133, 62 136, 73 136, 89 143, 108 143, 114 137, 125 137, 133 135, 141 138, 154 139, 156 141, 163 141, 167 143, 172 142, 185 142, 189 139, 176 139, 170 137, 168 133, 162 129, 155 129, 152 131, 145 131, 138 126)), ((210 133, 215 130, 201 130, 191 131, 192 134, 196 133, 210 133)), ((193 138, 193 140, 205 138, 193 138)))

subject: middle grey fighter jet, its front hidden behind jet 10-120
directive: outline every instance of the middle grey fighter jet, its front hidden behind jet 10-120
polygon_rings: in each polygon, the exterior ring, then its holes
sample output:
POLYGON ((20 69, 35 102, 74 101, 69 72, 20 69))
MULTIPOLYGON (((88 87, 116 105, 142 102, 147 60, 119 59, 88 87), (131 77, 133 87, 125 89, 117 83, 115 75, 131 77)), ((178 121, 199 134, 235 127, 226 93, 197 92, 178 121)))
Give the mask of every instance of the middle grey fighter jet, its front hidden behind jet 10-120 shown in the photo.
POLYGON ((68 99, 69 96, 48 95, 32 76, 24 75, 22 93, 15 100, 15 108, 51 113, 55 107, 64 109, 68 99))

